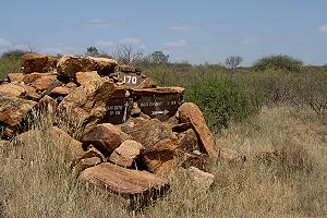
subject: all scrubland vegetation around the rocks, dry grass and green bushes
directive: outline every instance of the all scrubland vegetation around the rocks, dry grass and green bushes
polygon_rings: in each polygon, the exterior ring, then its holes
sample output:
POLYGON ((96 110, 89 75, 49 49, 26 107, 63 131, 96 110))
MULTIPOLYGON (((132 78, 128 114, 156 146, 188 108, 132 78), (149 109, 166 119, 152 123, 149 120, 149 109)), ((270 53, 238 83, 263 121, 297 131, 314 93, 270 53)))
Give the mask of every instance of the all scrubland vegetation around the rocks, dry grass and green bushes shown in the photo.
MULTIPOLYGON (((134 211, 118 196, 78 183, 62 150, 43 130, 0 154, 0 217, 326 217, 327 68, 303 66, 284 56, 252 68, 142 63, 161 86, 186 87, 203 110, 217 147, 242 153, 242 166, 217 162, 208 193, 180 175, 171 194, 134 211)), ((19 71, 0 59, 0 76, 19 71)))

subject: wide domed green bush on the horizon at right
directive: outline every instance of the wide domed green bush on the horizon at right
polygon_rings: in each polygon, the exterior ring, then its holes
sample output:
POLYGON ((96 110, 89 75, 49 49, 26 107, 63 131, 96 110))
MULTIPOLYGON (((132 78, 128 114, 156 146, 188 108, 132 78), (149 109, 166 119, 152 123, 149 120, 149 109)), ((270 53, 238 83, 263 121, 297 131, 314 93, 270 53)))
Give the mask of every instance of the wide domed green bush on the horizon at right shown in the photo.
POLYGON ((266 71, 268 69, 272 69, 284 70, 289 72, 300 72, 302 66, 302 61, 282 55, 264 57, 253 64, 253 69, 255 71, 266 71))

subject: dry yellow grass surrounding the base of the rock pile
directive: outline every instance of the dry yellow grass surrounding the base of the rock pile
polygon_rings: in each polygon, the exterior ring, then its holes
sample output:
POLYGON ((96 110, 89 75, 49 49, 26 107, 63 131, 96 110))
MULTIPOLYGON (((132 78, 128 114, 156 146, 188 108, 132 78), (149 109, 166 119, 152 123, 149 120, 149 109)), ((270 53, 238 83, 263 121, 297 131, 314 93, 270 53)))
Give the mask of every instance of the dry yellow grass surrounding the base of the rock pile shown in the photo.
MULTIPOLYGON (((46 129, 43 125, 43 129, 46 129)), ((233 123, 218 146, 244 153, 243 166, 217 164, 210 192, 196 194, 183 173, 172 192, 142 211, 119 197, 86 187, 71 175, 61 145, 35 133, 24 146, 1 153, 4 217, 326 217, 327 122, 310 111, 264 107, 233 123)))

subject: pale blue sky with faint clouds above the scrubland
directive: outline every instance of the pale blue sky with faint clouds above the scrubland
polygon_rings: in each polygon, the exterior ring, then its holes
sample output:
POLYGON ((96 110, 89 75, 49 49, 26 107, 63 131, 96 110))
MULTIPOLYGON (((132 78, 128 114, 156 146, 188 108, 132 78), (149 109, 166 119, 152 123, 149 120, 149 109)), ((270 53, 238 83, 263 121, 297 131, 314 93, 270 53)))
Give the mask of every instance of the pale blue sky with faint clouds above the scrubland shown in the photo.
POLYGON ((0 52, 108 53, 132 44, 172 61, 289 55, 327 63, 327 0, 2 0, 0 52))

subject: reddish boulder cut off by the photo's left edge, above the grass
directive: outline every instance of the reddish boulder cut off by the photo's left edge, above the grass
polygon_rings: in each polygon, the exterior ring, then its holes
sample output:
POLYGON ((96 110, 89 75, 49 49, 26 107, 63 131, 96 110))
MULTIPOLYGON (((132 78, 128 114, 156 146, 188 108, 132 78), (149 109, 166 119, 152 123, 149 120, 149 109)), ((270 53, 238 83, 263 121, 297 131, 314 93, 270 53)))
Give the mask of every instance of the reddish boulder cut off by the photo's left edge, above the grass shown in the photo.
POLYGON ((2 137, 12 137, 20 123, 37 102, 16 97, 0 96, 0 124, 2 137))

